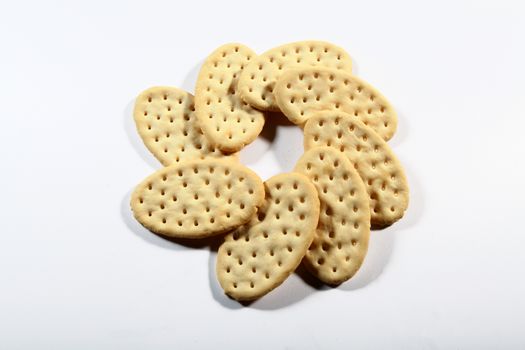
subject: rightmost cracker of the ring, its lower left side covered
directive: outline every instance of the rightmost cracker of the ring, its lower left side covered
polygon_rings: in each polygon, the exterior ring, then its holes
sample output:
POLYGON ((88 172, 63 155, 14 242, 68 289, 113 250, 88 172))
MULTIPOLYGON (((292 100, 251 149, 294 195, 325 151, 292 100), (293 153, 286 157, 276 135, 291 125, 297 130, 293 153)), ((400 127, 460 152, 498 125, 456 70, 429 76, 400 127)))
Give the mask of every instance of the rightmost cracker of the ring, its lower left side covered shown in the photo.
POLYGON ((344 152, 365 183, 372 226, 399 220, 408 206, 408 183, 401 163, 371 128, 338 111, 313 114, 304 128, 306 150, 330 146, 344 152))

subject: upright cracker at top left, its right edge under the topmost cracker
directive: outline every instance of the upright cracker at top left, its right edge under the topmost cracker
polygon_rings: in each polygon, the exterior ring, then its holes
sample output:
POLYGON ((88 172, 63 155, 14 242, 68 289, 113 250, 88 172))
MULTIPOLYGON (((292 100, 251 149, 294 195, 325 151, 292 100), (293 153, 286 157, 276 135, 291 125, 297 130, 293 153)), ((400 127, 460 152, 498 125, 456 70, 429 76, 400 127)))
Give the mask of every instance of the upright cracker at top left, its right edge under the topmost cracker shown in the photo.
POLYGON ((257 55, 241 44, 226 44, 204 62, 195 89, 195 109, 204 134, 216 147, 236 152, 251 143, 264 114, 241 100, 237 80, 257 55))

